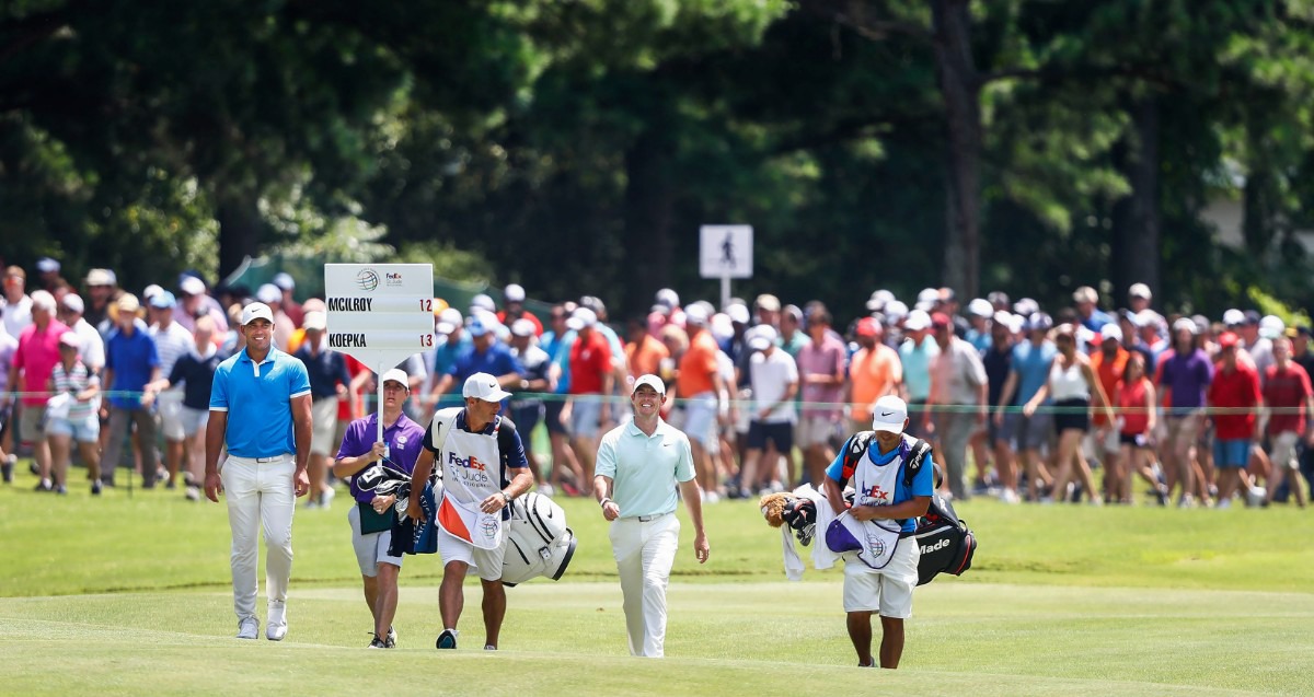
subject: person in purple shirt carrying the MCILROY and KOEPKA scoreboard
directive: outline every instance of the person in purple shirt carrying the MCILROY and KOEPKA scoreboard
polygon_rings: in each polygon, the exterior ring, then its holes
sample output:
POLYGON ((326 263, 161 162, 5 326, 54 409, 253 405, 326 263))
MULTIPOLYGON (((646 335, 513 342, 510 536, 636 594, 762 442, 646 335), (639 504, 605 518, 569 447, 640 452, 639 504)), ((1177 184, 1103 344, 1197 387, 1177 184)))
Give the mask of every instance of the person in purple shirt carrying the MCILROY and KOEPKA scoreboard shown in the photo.
POLYGON ((347 425, 332 466, 338 476, 352 478, 351 495, 356 505, 347 511, 347 521, 351 522, 351 546, 356 550, 360 579, 365 585, 365 604, 374 616, 374 638, 369 648, 397 646, 393 617, 397 614, 397 576, 402 559, 388 554, 393 538, 392 508, 397 496, 361 491, 355 475, 377 461, 385 461, 406 474, 415 469, 424 428, 402 411, 407 396, 410 379, 406 373, 396 368, 384 373, 384 440, 377 440, 378 413, 356 419, 347 425))

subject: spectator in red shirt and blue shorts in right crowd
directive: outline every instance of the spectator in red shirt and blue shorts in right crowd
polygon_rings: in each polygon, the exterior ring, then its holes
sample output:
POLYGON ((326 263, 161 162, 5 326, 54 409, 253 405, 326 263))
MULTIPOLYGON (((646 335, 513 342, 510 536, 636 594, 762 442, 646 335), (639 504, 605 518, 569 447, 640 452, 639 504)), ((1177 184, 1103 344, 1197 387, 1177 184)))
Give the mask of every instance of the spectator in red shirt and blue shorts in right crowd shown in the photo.
POLYGON ((1218 337, 1219 360, 1206 394, 1214 420, 1219 508, 1231 505, 1231 496, 1242 484, 1242 473, 1256 436, 1255 412, 1261 399, 1259 373, 1248 362, 1236 360, 1236 344, 1238 337, 1233 332, 1218 337))

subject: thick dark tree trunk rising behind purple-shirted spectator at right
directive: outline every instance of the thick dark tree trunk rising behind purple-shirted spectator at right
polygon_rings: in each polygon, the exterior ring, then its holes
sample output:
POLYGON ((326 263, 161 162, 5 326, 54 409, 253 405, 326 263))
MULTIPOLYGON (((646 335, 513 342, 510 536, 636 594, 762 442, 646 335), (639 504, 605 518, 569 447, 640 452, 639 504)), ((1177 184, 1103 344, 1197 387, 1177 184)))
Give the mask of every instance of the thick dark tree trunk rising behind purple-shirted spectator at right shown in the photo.
POLYGON ((1141 97, 1130 108, 1134 131, 1125 143, 1122 165, 1131 194, 1113 206, 1113 248, 1109 278, 1114 305, 1122 306, 1133 284, 1150 286, 1160 299, 1159 287, 1159 104, 1154 96, 1141 97))

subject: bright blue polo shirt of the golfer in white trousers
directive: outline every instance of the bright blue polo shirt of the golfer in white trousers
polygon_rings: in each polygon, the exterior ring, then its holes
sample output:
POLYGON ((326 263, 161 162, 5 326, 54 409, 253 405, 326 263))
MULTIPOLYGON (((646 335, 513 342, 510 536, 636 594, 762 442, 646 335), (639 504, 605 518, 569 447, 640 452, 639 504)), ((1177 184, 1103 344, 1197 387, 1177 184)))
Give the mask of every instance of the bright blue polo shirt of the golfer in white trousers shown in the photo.
POLYGON ((210 411, 229 412, 223 442, 238 457, 297 452, 292 399, 310 394, 306 364, 269 348, 256 364, 246 349, 219 364, 210 387, 210 411), (230 407, 235 406, 235 410, 230 407))

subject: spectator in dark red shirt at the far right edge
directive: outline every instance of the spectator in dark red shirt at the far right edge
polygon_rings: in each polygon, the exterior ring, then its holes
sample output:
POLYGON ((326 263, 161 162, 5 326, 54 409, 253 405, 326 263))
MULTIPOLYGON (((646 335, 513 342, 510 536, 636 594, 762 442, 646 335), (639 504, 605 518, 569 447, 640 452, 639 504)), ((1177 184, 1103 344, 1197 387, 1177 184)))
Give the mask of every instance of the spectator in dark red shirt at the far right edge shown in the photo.
POLYGON ((1309 373, 1292 360, 1292 341, 1273 340, 1273 365, 1264 371, 1264 406, 1269 410, 1268 438, 1273 444, 1273 475, 1268 478, 1268 491, 1264 505, 1273 503, 1273 492, 1282 486, 1286 471, 1292 471, 1292 494, 1296 504, 1305 508, 1305 491, 1300 476, 1296 455, 1297 444, 1305 438, 1305 445, 1314 445, 1314 431, 1305 428, 1306 420, 1314 413, 1314 390, 1310 389, 1309 373))

